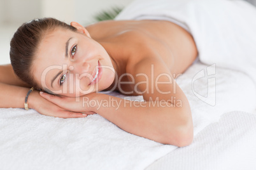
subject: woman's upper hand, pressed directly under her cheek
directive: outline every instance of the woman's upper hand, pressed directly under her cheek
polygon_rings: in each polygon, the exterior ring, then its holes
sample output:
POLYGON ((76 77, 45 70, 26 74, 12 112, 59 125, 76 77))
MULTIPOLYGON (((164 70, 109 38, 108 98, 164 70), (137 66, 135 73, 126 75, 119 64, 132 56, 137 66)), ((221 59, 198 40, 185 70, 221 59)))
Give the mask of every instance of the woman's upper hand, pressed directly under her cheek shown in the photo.
MULTIPOLYGON (((86 105, 84 105, 84 101, 89 100, 89 97, 85 97, 85 96, 80 96, 77 98, 71 98, 67 96, 60 97, 60 96, 50 95, 48 93, 43 93, 43 91, 40 91, 40 95, 46 100, 66 110, 70 110, 72 112, 85 113, 87 115, 96 114, 95 112, 92 112, 90 108, 87 108, 86 105)), ((86 96, 90 96, 90 95, 92 94, 89 94, 86 96)))

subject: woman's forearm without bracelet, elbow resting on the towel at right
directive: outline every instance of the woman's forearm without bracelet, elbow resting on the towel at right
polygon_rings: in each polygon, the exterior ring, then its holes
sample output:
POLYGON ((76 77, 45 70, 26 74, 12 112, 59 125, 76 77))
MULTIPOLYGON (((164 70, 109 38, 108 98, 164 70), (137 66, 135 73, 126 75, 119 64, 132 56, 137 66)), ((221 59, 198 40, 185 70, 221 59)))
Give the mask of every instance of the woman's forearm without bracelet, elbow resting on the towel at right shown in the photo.
POLYGON ((129 133, 178 147, 192 142, 193 124, 186 107, 165 100, 129 101, 103 94, 83 104, 129 133), (103 107, 107 101, 108 107, 103 107))

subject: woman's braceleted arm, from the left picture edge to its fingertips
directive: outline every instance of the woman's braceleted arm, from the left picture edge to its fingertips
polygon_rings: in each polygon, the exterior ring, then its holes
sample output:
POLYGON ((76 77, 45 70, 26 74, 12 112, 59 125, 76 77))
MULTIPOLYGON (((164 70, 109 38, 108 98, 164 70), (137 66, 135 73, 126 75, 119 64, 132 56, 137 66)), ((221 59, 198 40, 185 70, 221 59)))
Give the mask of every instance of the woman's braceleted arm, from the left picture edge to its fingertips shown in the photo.
MULTIPOLYGON (((11 65, 0 65, 0 108, 24 108, 25 96, 31 87, 18 79, 11 65)), ((34 90, 27 100, 29 108, 33 108, 43 115, 53 117, 71 118, 86 117, 87 114, 71 112, 60 108, 52 102, 45 100, 34 90)))

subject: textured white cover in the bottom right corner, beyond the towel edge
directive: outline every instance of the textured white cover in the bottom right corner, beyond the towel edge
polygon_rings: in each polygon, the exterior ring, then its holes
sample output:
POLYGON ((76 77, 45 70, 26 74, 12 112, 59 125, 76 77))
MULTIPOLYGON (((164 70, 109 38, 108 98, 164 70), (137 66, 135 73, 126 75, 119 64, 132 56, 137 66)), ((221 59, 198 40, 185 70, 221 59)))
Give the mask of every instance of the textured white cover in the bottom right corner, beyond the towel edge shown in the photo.
POLYGON ((229 112, 199 132, 192 145, 177 148, 146 170, 255 169, 256 114, 229 112))

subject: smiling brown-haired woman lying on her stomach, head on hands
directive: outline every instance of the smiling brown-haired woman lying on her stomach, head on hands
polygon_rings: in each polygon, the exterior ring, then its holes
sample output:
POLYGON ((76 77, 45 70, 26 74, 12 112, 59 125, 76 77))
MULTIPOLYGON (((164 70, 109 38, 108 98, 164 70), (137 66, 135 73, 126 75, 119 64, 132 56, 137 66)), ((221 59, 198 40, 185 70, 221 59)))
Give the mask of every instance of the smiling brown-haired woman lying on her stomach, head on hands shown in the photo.
POLYGON ((174 79, 194 62, 197 48, 174 23, 106 21, 85 28, 53 18, 32 20, 13 36, 10 56, 22 81, 11 65, 1 67, 1 107, 24 107, 33 86, 38 90, 27 103, 40 114, 96 113, 150 140, 179 147, 192 142, 190 106, 174 79), (144 101, 96 93, 102 90, 143 95, 144 101))

